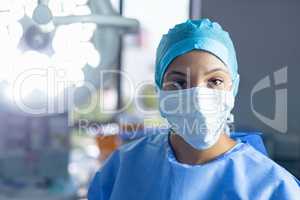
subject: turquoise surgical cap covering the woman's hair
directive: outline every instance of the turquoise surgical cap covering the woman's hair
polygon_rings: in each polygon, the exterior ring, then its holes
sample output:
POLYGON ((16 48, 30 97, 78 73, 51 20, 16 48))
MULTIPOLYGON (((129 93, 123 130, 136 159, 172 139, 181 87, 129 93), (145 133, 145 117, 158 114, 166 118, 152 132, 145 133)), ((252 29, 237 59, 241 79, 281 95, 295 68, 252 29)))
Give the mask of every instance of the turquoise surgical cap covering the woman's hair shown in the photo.
POLYGON ((189 19, 163 35, 156 52, 155 83, 158 88, 162 88, 164 74, 172 60, 195 49, 210 52, 226 64, 236 95, 239 74, 233 43, 229 34, 217 22, 209 19, 189 19))

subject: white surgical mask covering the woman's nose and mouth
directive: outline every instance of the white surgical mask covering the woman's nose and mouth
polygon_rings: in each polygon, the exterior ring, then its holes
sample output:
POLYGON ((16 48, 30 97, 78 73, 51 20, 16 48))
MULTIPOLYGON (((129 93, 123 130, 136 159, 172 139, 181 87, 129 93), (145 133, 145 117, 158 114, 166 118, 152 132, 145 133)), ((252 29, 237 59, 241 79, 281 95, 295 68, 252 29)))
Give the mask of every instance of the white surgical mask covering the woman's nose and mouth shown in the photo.
POLYGON ((159 90, 159 109, 171 129, 198 150, 214 145, 234 106, 232 91, 193 87, 159 90))

